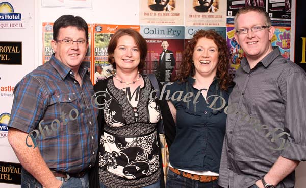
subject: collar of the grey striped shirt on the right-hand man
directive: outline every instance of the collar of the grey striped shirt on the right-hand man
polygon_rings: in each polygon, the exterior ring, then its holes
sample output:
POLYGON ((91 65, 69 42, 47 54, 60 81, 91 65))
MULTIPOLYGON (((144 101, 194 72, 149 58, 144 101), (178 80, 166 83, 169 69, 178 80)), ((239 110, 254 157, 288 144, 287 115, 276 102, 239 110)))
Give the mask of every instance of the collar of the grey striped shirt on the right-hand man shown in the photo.
MULTIPOLYGON (((272 49, 273 49, 272 52, 270 52, 266 57, 264 57, 261 61, 258 62, 264 65, 265 68, 267 68, 272 63, 272 61, 281 54, 281 51, 279 51, 277 46, 273 46, 272 49)), ((245 72, 247 73, 250 72, 250 65, 248 64, 248 61, 246 58, 243 58, 241 60, 240 65, 245 72)))

